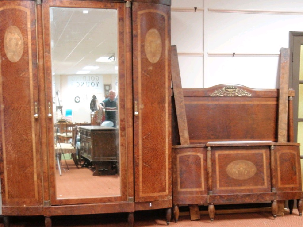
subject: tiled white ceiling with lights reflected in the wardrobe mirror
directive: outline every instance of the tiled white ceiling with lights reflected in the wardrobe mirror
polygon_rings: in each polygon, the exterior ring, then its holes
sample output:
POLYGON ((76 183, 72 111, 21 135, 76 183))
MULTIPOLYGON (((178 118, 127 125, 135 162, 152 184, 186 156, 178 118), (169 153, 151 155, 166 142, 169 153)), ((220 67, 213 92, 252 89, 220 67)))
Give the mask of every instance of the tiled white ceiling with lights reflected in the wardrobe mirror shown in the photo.
POLYGON ((117 74, 117 11, 83 10, 50 9, 52 74, 75 75, 85 66, 99 66, 88 74, 117 74), (115 57, 115 61, 96 62, 99 57, 115 57))

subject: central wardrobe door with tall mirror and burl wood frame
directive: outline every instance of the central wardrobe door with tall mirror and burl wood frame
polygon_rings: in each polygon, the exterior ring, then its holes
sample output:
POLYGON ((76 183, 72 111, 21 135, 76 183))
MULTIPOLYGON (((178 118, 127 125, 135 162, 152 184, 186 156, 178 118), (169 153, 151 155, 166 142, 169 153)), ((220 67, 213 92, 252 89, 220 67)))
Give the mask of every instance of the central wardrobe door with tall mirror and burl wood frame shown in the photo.
POLYGON ((127 201, 124 14, 43 2, 51 205, 127 201))

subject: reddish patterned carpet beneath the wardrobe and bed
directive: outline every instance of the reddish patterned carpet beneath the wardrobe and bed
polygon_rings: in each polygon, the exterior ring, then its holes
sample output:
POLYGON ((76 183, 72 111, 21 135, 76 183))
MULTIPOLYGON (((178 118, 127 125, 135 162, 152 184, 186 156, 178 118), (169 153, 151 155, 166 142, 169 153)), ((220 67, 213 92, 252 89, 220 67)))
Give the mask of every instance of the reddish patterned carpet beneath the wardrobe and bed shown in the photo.
MULTIPOLYGON (((134 227, 163 227, 166 226, 164 210, 135 212, 134 227)), ((43 227, 44 217, 12 217, 11 227, 43 227)), ((128 227, 127 214, 100 214, 100 215, 74 215, 52 217, 53 227, 128 227)), ((173 219, 171 227, 302 227, 303 217, 294 209, 290 215, 288 210, 285 215, 274 219, 270 212, 216 214, 211 222, 208 215, 201 215, 199 221, 191 221, 188 215, 179 217, 178 222, 173 219)), ((0 223, 3 227, 3 223, 0 223)))

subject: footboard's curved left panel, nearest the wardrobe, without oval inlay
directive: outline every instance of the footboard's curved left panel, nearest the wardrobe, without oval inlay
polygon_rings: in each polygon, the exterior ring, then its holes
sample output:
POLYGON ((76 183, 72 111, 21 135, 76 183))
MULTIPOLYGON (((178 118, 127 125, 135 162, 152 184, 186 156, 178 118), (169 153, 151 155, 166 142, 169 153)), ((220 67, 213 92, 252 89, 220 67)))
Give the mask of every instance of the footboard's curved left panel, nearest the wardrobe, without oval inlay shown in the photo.
POLYGON ((172 147, 173 204, 207 203, 207 149, 205 145, 172 147))

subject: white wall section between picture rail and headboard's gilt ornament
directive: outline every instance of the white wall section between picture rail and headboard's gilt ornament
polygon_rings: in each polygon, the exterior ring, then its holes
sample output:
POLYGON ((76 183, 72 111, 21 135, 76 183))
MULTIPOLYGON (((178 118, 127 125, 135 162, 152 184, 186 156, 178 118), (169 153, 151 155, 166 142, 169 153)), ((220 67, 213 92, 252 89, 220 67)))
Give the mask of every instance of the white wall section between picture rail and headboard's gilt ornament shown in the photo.
POLYGON ((241 84, 253 88, 275 88, 277 57, 208 56, 205 87, 216 84, 241 84))

